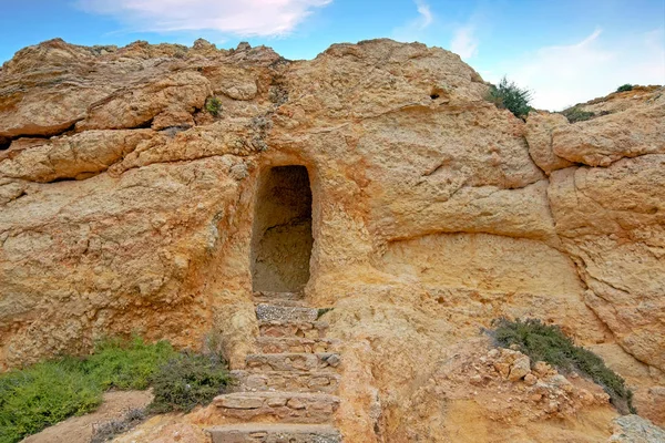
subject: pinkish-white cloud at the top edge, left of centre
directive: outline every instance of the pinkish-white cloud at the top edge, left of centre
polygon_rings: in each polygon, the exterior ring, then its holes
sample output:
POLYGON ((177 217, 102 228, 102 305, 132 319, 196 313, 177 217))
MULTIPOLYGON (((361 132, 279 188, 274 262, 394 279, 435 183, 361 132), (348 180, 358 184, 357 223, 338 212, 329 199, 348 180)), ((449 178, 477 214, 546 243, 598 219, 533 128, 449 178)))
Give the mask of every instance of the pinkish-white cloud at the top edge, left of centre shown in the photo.
POLYGON ((213 30, 238 37, 284 35, 315 8, 332 0, 79 0, 85 11, 108 14, 134 30, 213 30))

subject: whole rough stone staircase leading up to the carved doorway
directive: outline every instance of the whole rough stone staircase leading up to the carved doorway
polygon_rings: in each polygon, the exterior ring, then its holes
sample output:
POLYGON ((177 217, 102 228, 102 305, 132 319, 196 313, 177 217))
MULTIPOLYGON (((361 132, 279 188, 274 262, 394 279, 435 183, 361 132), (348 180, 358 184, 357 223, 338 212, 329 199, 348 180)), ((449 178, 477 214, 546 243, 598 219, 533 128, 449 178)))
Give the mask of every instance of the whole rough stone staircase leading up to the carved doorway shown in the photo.
POLYGON ((340 443, 336 340, 301 293, 255 292, 260 353, 232 371, 232 392, 213 401, 225 424, 213 443, 340 443))

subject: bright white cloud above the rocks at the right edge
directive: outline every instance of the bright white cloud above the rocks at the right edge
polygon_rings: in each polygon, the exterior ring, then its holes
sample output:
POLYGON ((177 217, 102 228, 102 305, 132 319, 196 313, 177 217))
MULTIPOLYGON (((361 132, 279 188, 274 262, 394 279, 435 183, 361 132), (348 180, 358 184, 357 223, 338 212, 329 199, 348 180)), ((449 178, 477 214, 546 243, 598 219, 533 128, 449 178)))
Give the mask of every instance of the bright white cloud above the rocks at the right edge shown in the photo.
POLYGON ((605 38, 597 29, 569 45, 544 47, 492 70, 487 79, 503 74, 533 91, 533 106, 559 111, 604 96, 624 83, 665 83, 663 29, 621 40, 605 38))

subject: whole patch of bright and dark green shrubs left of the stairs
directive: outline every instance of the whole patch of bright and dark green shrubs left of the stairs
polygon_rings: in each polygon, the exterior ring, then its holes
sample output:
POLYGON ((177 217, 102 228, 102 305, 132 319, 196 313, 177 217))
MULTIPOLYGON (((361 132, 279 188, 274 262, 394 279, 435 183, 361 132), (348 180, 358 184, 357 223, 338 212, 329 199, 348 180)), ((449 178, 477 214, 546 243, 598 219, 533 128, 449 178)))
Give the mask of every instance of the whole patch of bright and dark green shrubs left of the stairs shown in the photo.
POLYGON ((0 443, 91 412, 109 389, 152 385, 151 408, 165 412, 208 402, 226 384, 228 371, 217 356, 178 353, 165 341, 105 340, 88 358, 63 357, 0 374, 0 443))

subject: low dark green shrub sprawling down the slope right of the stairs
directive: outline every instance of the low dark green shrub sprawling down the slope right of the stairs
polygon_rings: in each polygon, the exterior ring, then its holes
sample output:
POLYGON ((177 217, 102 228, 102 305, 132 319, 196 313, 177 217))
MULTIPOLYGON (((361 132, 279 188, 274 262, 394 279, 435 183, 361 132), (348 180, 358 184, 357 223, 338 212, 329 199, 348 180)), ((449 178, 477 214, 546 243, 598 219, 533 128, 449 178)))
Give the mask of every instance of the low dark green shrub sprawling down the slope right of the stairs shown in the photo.
POLYGON ((516 344, 532 362, 545 361, 561 371, 576 371, 603 387, 612 404, 622 413, 636 413, 633 392, 624 379, 605 365, 603 359, 587 349, 577 347, 556 326, 540 320, 511 321, 505 318, 493 321, 491 334, 504 348, 516 344))

